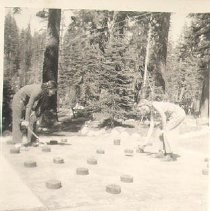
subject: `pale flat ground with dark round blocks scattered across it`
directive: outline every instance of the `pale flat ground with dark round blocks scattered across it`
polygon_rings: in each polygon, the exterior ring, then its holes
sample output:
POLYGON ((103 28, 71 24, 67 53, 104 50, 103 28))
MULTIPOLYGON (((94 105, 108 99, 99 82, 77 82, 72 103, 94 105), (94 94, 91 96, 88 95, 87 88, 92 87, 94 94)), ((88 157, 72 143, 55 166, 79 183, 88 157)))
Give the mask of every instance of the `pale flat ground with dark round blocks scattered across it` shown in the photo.
POLYGON ((83 128, 77 133, 40 137, 44 142, 67 138, 65 145, 50 145, 51 152, 29 147, 11 154, 6 137, 2 139, 3 154, 46 210, 207 211, 208 176, 202 170, 207 168, 204 159, 208 157, 209 130, 204 126, 183 133, 183 127, 170 135, 177 157, 172 162, 154 158, 158 149, 155 137, 152 147, 137 153, 145 131, 121 127, 110 131, 83 128), (116 138, 121 140, 120 145, 114 145, 116 138), (97 149, 105 153, 97 154, 97 149), (126 156, 125 149, 133 149, 133 155, 126 156), (64 159, 63 164, 53 163, 57 156, 64 159), (87 163, 90 157, 97 159, 97 165, 87 163), (36 161, 37 167, 25 168, 27 160, 36 161), (88 168, 89 175, 77 175, 78 167, 88 168), (131 175, 133 183, 121 182, 124 174, 131 175), (62 188, 47 189, 45 182, 49 179, 60 180, 62 188), (108 184, 119 185, 121 193, 107 193, 108 184))

